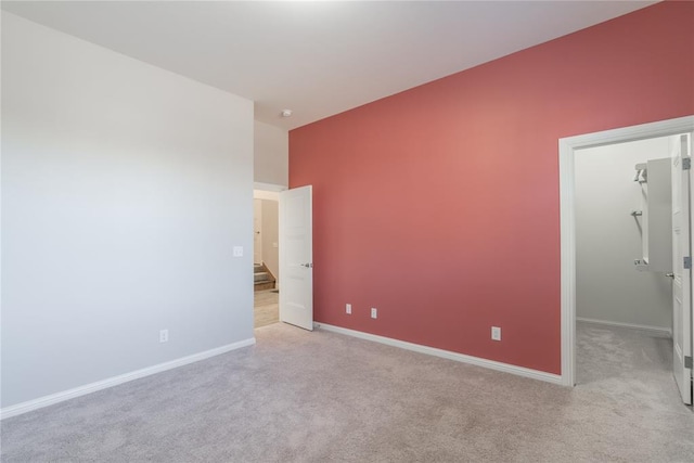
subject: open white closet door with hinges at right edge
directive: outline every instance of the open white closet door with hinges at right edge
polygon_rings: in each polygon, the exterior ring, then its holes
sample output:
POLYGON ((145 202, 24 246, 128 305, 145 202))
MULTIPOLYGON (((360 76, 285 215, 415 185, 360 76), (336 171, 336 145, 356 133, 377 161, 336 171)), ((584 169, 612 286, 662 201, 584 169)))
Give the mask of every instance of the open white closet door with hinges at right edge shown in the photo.
POLYGON ((670 138, 672 157, 672 371, 684 403, 692 403, 692 270, 684 265, 691 256, 689 162, 691 138, 670 138))

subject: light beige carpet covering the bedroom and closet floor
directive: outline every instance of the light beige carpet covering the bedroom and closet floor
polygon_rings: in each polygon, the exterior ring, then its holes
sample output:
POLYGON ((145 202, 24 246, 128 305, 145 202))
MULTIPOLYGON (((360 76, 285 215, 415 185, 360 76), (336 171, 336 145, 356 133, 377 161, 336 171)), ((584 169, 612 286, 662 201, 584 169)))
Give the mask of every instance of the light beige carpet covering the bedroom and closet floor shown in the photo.
POLYGON ((692 462, 667 343, 579 324, 576 388, 277 323, 2 422, 3 462, 692 462))

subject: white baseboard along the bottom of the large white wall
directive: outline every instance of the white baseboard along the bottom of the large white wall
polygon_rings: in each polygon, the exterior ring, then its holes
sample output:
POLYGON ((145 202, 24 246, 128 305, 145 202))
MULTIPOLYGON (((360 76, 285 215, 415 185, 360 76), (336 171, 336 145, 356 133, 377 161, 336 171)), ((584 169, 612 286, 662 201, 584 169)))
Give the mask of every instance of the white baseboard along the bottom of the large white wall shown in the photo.
POLYGON ((153 366, 147 366, 141 370, 136 370, 130 373, 113 376, 106 380, 98 381, 95 383, 90 383, 83 386, 75 387, 73 389, 67 389, 61 393, 51 394, 49 396, 39 397, 38 399, 28 400, 26 402, 17 403, 15 406, 5 407, 4 409, 0 410, 0 420, 21 415, 23 413, 42 409, 43 407, 49 407, 54 403, 63 402, 65 400, 74 399, 76 397, 86 396, 87 394, 91 394, 98 390, 106 389, 108 387, 117 386, 123 383, 128 383, 133 380, 139 380, 141 377, 150 376, 167 370, 172 370, 178 366, 183 366, 189 363, 205 360, 210 357, 219 356, 220 353, 226 353, 231 350, 240 349, 242 347, 253 346, 254 344, 256 344, 256 338, 252 337, 248 339, 240 340, 237 343, 217 347, 215 349, 205 350, 204 352, 181 357, 180 359, 159 363, 153 366))

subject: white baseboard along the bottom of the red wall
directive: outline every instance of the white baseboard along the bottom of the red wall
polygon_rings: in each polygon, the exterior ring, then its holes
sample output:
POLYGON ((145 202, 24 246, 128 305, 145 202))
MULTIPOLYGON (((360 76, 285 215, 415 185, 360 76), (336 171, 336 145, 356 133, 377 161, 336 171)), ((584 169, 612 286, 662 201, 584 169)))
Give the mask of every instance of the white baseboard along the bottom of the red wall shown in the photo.
POLYGON ((333 333, 346 334, 348 336, 359 337, 361 339, 367 339, 367 340, 373 340, 374 343, 386 344, 388 346, 399 347, 401 349, 412 350, 414 352, 426 353, 428 356, 440 357, 448 360, 454 360, 457 362, 470 363, 473 365, 483 366, 490 370, 515 374, 517 376, 524 376, 532 380, 544 381, 547 383, 562 385, 562 376, 558 374, 526 369, 524 366, 511 365, 509 363, 497 362, 494 360, 480 359, 479 357, 451 352, 450 350, 422 346, 420 344, 413 344, 404 340, 393 339, 390 337, 377 336, 375 334, 363 333, 361 331, 355 331, 355 330, 348 330, 345 327, 334 326, 325 323, 317 323, 317 326, 325 331, 331 331, 333 333))

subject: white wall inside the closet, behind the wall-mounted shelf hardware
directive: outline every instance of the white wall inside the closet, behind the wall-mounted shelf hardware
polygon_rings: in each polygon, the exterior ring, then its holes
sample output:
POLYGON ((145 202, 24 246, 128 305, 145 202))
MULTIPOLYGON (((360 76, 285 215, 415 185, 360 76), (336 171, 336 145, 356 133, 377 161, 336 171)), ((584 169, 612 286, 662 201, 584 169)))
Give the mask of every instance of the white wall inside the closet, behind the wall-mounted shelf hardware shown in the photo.
POLYGON ((629 215, 641 209, 634 165, 668 156, 667 137, 577 152, 577 317, 671 329, 670 279, 634 269, 641 234, 629 215))

